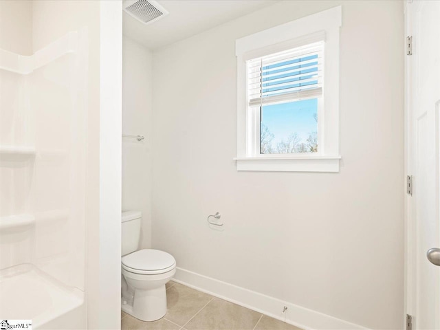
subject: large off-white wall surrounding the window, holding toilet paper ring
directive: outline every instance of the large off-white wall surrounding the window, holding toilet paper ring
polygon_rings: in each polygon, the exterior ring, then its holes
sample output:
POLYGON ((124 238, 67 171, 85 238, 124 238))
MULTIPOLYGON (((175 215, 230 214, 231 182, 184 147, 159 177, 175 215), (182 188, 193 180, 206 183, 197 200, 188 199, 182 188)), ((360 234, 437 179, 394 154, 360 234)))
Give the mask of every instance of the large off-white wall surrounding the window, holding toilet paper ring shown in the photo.
POLYGON ((153 54, 153 248, 373 329, 403 320, 399 1, 282 1, 153 54), (235 40, 342 4, 340 173, 236 171, 235 40), (206 225, 219 211, 224 231, 206 225))

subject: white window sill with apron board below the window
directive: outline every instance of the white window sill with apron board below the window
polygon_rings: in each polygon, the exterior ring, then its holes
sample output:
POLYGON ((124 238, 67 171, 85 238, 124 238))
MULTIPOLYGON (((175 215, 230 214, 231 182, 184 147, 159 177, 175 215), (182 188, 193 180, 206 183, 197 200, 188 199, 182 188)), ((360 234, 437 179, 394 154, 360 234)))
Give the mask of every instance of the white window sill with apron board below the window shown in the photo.
POLYGON ((273 172, 339 172, 338 156, 236 157, 236 170, 273 172))

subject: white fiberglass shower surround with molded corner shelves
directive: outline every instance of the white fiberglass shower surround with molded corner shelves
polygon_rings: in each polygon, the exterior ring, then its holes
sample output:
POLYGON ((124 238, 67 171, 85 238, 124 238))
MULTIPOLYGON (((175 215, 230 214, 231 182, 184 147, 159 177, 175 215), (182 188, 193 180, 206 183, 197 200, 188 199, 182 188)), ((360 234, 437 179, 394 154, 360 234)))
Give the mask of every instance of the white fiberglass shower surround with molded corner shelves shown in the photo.
MULTIPOLYGON (((0 296, 23 274, 46 291, 85 290, 87 45, 84 29, 32 56, 0 50, 0 296)), ((29 300, 0 311, 43 323, 41 308, 20 314, 29 300)))

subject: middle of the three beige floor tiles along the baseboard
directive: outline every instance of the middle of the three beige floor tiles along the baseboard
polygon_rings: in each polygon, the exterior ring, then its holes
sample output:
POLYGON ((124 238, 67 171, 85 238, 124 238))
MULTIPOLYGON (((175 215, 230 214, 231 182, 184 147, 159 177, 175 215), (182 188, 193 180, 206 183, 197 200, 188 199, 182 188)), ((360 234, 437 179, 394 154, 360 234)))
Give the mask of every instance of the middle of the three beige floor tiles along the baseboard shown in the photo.
POLYGON ((215 298, 185 325, 188 330, 252 330, 261 314, 215 298))

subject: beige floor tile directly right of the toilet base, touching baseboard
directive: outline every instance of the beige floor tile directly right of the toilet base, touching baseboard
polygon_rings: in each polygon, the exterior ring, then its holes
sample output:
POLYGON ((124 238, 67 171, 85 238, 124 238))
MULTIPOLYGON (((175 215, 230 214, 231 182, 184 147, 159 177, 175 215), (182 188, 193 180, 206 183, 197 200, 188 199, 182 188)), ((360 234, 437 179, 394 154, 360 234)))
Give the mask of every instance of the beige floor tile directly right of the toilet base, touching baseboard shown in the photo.
POLYGON ((165 318, 183 326, 212 298, 209 294, 175 283, 166 290, 168 312, 165 318))

